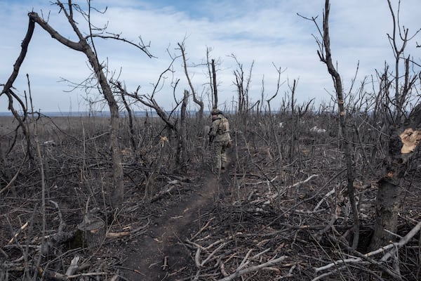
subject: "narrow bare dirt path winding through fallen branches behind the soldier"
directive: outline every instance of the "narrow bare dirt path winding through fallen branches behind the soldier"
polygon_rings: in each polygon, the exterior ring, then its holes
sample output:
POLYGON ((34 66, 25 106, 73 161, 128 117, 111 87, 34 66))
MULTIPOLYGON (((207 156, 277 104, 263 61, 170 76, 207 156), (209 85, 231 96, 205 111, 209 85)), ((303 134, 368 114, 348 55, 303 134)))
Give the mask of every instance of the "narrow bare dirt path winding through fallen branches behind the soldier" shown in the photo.
POLYGON ((220 176, 203 173, 196 191, 187 200, 175 204, 151 223, 147 234, 126 250, 128 259, 122 272, 126 280, 178 279, 183 268, 192 263, 189 249, 180 242, 199 230, 200 216, 213 208, 215 197, 219 197, 218 185, 226 184, 227 175, 228 171, 220 176))

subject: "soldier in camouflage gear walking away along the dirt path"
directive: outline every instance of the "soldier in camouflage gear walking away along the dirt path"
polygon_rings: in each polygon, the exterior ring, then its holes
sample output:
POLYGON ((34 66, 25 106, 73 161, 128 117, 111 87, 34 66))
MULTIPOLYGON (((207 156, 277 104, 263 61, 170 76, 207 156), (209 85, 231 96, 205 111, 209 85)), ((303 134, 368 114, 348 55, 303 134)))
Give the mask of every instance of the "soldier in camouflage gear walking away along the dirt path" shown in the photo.
POLYGON ((227 164, 227 148, 231 147, 228 119, 216 108, 212 110, 212 126, 209 131, 209 144, 213 144, 213 168, 224 170, 227 164))

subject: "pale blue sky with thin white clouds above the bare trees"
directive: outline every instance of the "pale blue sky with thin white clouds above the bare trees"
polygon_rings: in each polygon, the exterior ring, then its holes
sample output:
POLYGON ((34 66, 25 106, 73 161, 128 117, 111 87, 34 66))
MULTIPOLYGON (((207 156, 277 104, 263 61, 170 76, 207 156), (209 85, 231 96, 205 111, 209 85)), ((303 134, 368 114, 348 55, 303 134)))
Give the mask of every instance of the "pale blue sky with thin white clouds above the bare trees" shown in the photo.
MULTIPOLYGON (((375 76, 385 63, 393 65, 394 55, 387 34, 392 34, 392 16, 387 0, 330 1, 330 41, 333 60, 347 93, 355 78, 375 76), (356 72, 358 68, 358 72, 356 72)), ((0 84, 6 83, 20 53, 20 44, 28 26, 27 13, 34 11, 62 36, 76 40, 64 13, 51 0, 0 0, 0 84)), ((72 1, 82 8, 87 1, 72 1)), ((397 13, 398 0, 392 0, 397 13)), ((333 81, 326 65, 316 53, 319 37, 314 22, 321 27, 324 0, 92 0, 91 20, 96 27, 107 27, 104 34, 119 34, 149 45, 145 53, 129 44, 113 39, 96 38, 95 48, 100 61, 107 65, 107 75, 119 77, 130 93, 152 95, 160 75, 180 56, 178 43, 186 50, 189 76, 196 93, 210 109, 206 55, 215 59, 218 81, 218 107, 236 107, 237 93, 234 71, 241 65, 245 77, 250 74, 250 104, 268 100, 276 93, 271 108, 290 99, 293 81, 297 81, 295 100, 298 104, 314 100, 316 106, 330 103, 335 96, 333 81), (105 9, 106 8, 106 9, 105 9), (298 15, 300 14, 300 15, 298 15), (251 71, 250 71, 251 70, 251 71), (281 70, 279 76, 278 71, 281 70)), ((420 29, 420 0, 401 0, 400 25, 409 34, 420 29)), ((88 32, 86 21, 76 15, 79 29, 88 32)), ((416 34, 406 55, 421 64, 421 34, 416 34)), ((154 98, 164 110, 171 110, 189 89, 181 58, 166 72, 163 84, 154 98), (175 90, 174 81, 178 81, 175 90)), ((32 96, 34 110, 41 112, 107 111, 96 89, 75 89, 91 77, 91 68, 83 53, 63 46, 41 27, 36 26, 27 56, 13 86, 22 98, 32 96), (28 76, 27 76, 28 75, 28 76), (28 79, 30 87, 28 86, 28 79)), ((162 80, 161 80, 162 81, 162 80)), ((368 86, 368 90, 373 86, 368 86)), ((356 86, 352 88, 355 91, 356 86)), ((264 101, 267 105, 267 102, 264 101)), ((8 111, 8 101, 0 97, 0 112, 8 111)), ((145 106, 134 104, 133 110, 145 106)), ((190 110, 196 110, 189 103, 190 110)))

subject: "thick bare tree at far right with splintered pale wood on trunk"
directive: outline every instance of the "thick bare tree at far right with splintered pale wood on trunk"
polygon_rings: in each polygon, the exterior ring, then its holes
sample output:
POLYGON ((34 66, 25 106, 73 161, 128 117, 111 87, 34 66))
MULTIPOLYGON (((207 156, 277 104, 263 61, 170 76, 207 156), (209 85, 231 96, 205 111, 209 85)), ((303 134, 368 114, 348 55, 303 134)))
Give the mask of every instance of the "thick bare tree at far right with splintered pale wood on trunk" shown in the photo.
MULTIPOLYGON (((420 32, 417 30, 410 37, 408 28, 401 27, 398 14, 395 15, 390 0, 387 0, 393 20, 393 32, 388 34, 389 43, 394 53, 394 74, 389 67, 379 75, 381 107, 384 112, 384 133, 389 136, 387 155, 384 161, 384 176, 379 181, 376 201, 376 221, 370 249, 377 249, 396 240, 398 214, 401 208, 401 181, 408 169, 408 160, 413 151, 403 152, 403 135, 406 129, 417 129, 421 125, 421 104, 418 104, 408 115, 408 103, 413 96, 413 87, 420 79, 421 72, 413 72, 410 56, 404 56, 404 51, 410 39, 420 32), (401 46, 398 46, 399 40, 401 46), (403 70, 403 74, 400 73, 403 70)), ((399 2, 400 5, 400 2, 399 2)))

